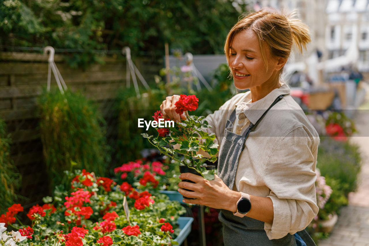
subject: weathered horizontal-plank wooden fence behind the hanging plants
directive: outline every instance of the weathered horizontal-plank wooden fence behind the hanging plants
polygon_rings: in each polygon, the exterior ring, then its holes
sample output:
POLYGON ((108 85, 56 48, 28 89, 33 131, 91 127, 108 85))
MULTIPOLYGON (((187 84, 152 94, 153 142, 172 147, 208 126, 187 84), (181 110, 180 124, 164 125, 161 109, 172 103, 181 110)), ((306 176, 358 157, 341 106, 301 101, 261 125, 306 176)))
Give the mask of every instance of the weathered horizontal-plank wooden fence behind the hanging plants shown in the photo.
MULTIPOLYGON (((125 60, 107 57, 103 65, 91 65, 85 70, 70 68, 61 55, 55 55, 54 60, 68 89, 80 90, 95 101, 108 125, 116 126, 112 107, 117 89, 126 85, 125 60)), ((47 83, 47 61, 48 55, 43 54, 0 52, 0 119, 7 124, 12 139, 11 157, 23 176, 20 194, 30 202, 39 201, 48 189, 37 113, 37 97, 47 83)), ((148 83, 163 66, 163 61, 148 58, 134 62, 148 83)), ((51 84, 56 85, 54 76, 51 84)), ((107 134, 109 141, 116 132, 107 134)))

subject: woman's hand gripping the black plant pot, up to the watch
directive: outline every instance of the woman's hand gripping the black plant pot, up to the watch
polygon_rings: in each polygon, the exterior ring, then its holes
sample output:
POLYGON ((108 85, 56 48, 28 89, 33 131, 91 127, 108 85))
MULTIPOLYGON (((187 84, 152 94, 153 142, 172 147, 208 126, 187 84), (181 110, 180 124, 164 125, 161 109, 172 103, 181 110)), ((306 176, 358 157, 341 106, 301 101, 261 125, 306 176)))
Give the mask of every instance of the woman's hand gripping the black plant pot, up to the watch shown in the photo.
POLYGON ((181 180, 191 180, 190 182, 179 182, 179 193, 189 198, 183 199, 183 202, 190 204, 200 204, 216 209, 227 209, 235 212, 237 210, 236 203, 240 197, 239 192, 232 191, 218 175, 215 174, 214 180, 206 180, 202 176, 189 172, 182 173, 179 178, 181 180), (186 191, 185 189, 193 191, 186 191))

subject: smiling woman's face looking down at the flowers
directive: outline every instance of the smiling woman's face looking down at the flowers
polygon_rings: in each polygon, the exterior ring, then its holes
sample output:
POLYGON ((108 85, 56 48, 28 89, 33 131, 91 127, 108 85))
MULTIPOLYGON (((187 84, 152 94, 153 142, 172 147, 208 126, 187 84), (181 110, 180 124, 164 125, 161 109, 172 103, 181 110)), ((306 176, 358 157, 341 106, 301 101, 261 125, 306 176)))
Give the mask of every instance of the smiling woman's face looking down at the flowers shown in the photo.
POLYGON ((277 59, 270 55, 269 48, 265 50, 268 70, 266 70, 259 47, 259 40, 251 30, 236 34, 230 47, 228 64, 232 70, 234 85, 244 90, 255 86, 270 87, 279 83, 277 59))

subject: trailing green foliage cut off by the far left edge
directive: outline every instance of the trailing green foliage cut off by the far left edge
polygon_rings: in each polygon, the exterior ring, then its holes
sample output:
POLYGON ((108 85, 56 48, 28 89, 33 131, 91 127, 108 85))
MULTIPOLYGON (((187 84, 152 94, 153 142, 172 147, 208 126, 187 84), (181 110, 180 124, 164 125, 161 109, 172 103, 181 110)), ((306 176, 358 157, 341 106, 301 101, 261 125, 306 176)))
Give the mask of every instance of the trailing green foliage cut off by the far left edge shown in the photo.
POLYGON ((21 175, 10 158, 11 140, 6 134, 6 124, 0 119, 0 211, 14 204, 21 184, 21 175))

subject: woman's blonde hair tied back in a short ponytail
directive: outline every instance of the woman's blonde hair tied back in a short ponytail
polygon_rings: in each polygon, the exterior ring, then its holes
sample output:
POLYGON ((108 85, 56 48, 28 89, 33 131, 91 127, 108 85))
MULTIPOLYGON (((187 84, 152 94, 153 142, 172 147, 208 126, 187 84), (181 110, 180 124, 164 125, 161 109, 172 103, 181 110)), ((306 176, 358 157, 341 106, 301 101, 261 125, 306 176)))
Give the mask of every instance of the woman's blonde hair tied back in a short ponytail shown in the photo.
MULTIPOLYGON (((268 69, 265 45, 269 47, 274 58, 289 58, 292 45, 295 44, 302 54, 303 49, 311 41, 309 28, 301 20, 295 18, 295 13, 284 15, 270 10, 261 9, 239 20, 230 30, 224 44, 227 62, 230 57, 230 47, 236 34, 252 30, 259 39, 263 63, 268 69)), ((282 69, 280 70, 282 72, 282 69)))

